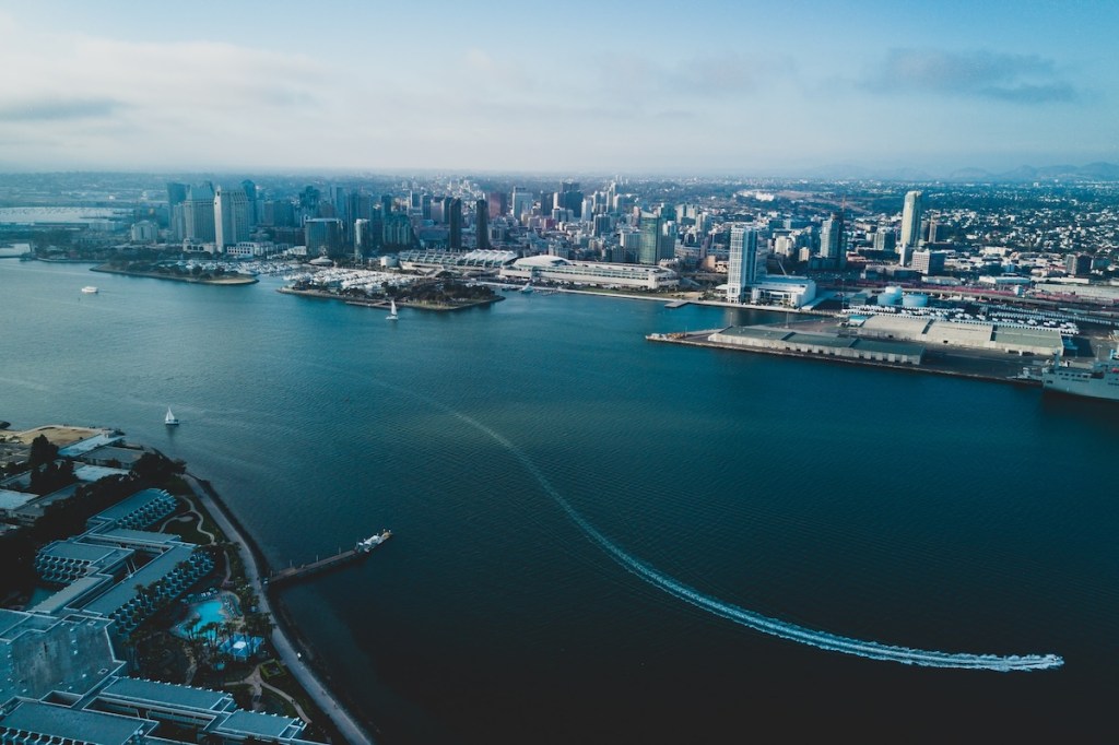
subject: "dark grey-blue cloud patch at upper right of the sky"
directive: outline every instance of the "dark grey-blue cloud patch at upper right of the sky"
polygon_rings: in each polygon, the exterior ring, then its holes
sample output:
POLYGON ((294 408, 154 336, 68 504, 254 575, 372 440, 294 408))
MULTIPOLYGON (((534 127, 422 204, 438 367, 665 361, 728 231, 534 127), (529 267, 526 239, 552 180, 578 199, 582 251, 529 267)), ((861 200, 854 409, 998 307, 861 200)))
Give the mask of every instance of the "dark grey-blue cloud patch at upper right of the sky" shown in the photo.
POLYGON ((994 51, 891 49, 862 85, 877 93, 933 93, 1022 104, 1065 103, 1081 95, 1061 78, 1052 60, 994 51))

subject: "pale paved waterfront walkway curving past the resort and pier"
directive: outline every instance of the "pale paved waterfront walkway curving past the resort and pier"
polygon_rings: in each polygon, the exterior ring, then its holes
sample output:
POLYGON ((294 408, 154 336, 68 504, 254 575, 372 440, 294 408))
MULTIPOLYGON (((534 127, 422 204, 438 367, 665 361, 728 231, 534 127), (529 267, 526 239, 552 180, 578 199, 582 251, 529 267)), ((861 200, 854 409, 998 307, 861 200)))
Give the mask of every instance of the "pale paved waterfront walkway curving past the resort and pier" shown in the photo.
MULTIPOLYGON (((225 509, 217 504, 209 496, 209 493, 198 483, 198 479, 190 475, 189 473, 184 474, 184 479, 190 485, 190 489, 195 492, 195 497, 198 498, 198 503, 201 504, 203 509, 209 512, 210 517, 217 526, 225 532, 226 537, 233 541, 237 550, 241 553, 242 562, 245 565, 245 578, 248 584, 252 585, 253 590, 256 592, 258 602, 261 604, 261 610, 271 615, 273 619, 276 617, 275 613, 272 612, 272 606, 269 603, 269 597, 264 593, 264 587, 261 584, 260 570, 256 567, 256 559, 253 557, 253 553, 248 550, 245 546, 245 540, 241 532, 233 527, 228 517, 225 513, 225 509)), ((349 711, 339 706, 337 699, 327 692, 327 687, 321 682, 314 671, 311 670, 302 660, 301 653, 295 651, 295 645, 290 639, 280 630, 276 625, 272 630, 272 647, 275 649, 278 657, 288 666, 288 671, 299 681, 314 702, 322 709, 328 717, 335 723, 346 742, 350 745, 373 745, 373 737, 369 736, 365 729, 349 715, 349 711)), ((263 682, 263 681, 262 681, 263 682)))

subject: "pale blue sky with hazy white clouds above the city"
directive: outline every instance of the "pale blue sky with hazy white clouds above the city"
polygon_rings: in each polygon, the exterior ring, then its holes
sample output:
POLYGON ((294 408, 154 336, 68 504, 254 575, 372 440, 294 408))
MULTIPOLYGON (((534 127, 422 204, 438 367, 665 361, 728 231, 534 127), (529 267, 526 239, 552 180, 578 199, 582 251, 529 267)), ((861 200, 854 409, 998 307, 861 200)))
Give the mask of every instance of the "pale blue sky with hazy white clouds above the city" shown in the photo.
POLYGON ((1119 163, 1113 0, 0 0, 0 172, 1119 163))

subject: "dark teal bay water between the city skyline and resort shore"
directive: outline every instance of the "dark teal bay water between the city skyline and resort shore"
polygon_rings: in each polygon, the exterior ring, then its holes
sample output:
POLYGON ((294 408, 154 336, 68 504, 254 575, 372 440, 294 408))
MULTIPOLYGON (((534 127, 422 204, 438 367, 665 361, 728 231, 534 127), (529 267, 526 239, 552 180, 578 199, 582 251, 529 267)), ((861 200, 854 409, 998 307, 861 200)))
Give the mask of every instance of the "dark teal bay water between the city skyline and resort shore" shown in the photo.
POLYGON ((392 528, 284 593, 379 742, 1111 738, 1115 406, 645 340, 783 317, 278 286, 0 262, 0 419, 186 459, 276 566, 392 528))

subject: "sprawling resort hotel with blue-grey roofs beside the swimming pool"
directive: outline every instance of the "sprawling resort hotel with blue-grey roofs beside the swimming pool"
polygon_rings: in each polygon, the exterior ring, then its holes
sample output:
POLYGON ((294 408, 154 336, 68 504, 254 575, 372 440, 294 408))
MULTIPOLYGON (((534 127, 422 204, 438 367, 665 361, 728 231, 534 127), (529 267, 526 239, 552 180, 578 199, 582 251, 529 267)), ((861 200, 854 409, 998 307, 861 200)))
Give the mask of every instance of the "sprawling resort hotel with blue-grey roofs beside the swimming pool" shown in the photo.
MULTIPOLYGON (((228 692, 126 677, 130 633, 214 567, 206 549, 148 530, 176 504, 138 491, 38 551, 55 592, 0 610, 0 744, 307 742, 302 719, 239 709, 228 692)), ((236 656, 261 640, 228 641, 236 656)))

